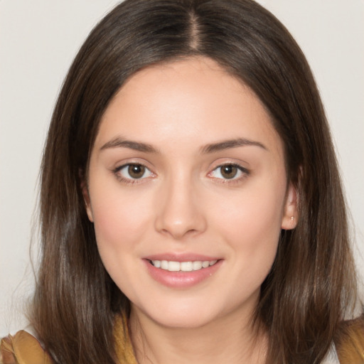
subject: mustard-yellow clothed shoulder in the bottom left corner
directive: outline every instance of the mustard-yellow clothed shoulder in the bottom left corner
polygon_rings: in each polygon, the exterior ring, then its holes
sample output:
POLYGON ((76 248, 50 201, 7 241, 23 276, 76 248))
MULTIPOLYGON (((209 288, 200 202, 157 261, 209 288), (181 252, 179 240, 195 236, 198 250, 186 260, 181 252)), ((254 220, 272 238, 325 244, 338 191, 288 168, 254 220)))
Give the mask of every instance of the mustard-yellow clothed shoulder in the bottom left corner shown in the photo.
POLYGON ((38 340, 26 331, 6 336, 0 342, 0 364, 51 364, 38 340))

